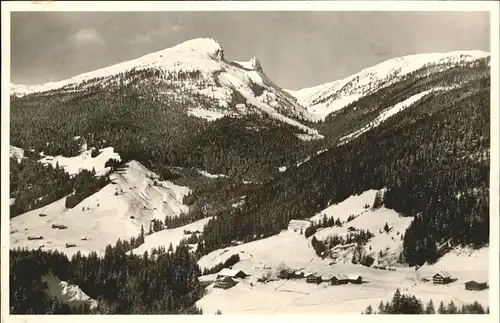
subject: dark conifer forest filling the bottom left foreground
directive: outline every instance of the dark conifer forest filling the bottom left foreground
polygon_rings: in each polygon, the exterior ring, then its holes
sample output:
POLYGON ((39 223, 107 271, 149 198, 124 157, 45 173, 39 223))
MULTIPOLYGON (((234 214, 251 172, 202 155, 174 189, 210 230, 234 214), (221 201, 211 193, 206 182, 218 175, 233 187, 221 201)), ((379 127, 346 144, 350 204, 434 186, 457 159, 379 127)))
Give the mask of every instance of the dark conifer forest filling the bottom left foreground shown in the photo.
MULTIPOLYGON (((135 239, 134 239, 135 241, 135 239)), ((133 241, 132 241, 133 242, 133 241)), ((104 257, 95 253, 66 255, 42 250, 10 251, 10 312, 15 314, 197 314, 194 302, 202 295, 196 259, 185 245, 155 255, 129 255, 129 241, 108 246, 104 257), (27 267, 28 266, 28 267, 27 267), (25 270, 23 268, 30 268, 25 270), (47 298, 41 281, 52 273, 77 284, 99 301, 97 309, 69 308, 47 298)))

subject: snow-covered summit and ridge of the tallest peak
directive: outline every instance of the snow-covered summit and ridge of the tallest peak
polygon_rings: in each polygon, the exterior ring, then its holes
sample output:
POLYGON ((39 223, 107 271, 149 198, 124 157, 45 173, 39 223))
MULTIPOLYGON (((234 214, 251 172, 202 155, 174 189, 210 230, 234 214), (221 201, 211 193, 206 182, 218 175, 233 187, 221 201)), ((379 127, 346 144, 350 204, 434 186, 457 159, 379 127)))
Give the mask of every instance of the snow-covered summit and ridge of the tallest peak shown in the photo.
MULTIPOLYGON (((56 89, 74 91, 78 86, 84 88, 93 84, 119 84, 119 74, 141 70, 160 72, 153 82, 161 88, 159 95, 181 95, 169 87, 173 84, 175 88, 182 88, 185 94, 202 95, 218 103, 210 108, 193 103, 193 107, 186 111, 191 116, 213 121, 226 115, 237 117, 247 113, 263 113, 296 127, 299 134, 304 132, 314 139, 322 138, 317 130, 300 123, 300 120, 304 119, 313 120, 315 116, 297 104, 288 93, 275 86, 264 74, 256 58, 249 62, 228 62, 224 59, 222 46, 208 38, 192 39, 162 51, 59 82, 36 86, 11 84, 11 94, 22 96, 56 89), (167 77, 178 72, 199 72, 200 76, 175 80, 167 77), (241 97, 244 102, 238 102, 241 97)), ((126 82, 125 79, 124 84, 126 82)), ((188 96, 184 99, 187 98, 188 96)))

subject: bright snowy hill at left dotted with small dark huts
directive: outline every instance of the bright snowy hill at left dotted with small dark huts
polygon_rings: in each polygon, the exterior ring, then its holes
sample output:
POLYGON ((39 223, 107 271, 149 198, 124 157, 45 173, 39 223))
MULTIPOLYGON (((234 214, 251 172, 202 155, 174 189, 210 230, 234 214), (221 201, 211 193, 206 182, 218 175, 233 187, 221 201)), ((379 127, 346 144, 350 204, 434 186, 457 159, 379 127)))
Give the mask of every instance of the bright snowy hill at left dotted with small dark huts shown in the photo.
POLYGON ((141 226, 148 232, 153 219, 178 216, 188 211, 182 204, 190 189, 158 176, 136 161, 126 164, 123 172, 112 173, 111 183, 66 209, 65 199, 21 214, 10 220, 10 246, 57 249, 68 255, 96 251, 102 254, 106 245, 121 239, 137 237, 141 226), (156 184, 155 184, 156 183, 156 184), (39 214, 46 214, 40 217, 39 214), (53 224, 67 229, 53 229, 53 224), (42 240, 28 240, 42 236, 42 240), (66 243, 75 247, 66 248, 66 243))

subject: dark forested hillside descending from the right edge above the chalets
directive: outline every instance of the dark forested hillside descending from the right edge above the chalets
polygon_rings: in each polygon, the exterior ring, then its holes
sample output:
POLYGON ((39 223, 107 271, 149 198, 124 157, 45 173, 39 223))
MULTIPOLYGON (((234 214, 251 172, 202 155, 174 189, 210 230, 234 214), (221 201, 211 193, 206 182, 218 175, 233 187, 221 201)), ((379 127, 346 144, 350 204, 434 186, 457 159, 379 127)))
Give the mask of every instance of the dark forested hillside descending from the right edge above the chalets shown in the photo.
POLYGON ((415 216, 404 235, 408 264, 435 258, 437 246, 446 241, 487 244, 489 73, 483 66, 460 79, 468 82, 424 97, 359 138, 248 194, 243 209, 207 225, 205 249, 276 234, 290 219, 310 217, 352 194, 383 187, 388 188, 388 208, 415 216))

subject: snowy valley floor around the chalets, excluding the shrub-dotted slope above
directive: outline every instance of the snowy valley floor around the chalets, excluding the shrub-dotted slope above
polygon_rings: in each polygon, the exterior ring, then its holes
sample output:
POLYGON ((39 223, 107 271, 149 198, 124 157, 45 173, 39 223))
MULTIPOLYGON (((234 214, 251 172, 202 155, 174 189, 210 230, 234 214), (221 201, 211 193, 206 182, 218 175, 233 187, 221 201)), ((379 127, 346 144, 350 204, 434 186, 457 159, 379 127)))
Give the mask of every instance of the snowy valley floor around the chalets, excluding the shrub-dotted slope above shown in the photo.
MULTIPOLYGON (((414 268, 397 268, 396 271, 369 268, 350 263, 332 264, 331 259, 321 259, 314 254, 310 241, 294 232, 283 232, 267 239, 214 251, 200 259, 200 267, 210 267, 223 262, 233 254, 241 261, 233 269, 243 270, 250 276, 235 279, 232 288, 207 287, 207 294, 197 302, 206 314, 220 310, 222 314, 266 313, 353 313, 359 314, 369 305, 376 310, 381 300, 390 301, 397 288, 402 294, 415 295, 425 304, 432 299, 434 306, 441 301, 456 306, 478 301, 489 306, 489 291, 467 291, 468 280, 488 281, 489 248, 456 250, 434 265, 414 268), (359 274, 360 285, 332 286, 328 283, 311 284, 305 279, 257 282, 266 272, 275 273, 280 264, 305 272, 328 274, 359 274), (447 270, 457 280, 448 285, 434 285, 421 281, 440 270, 447 270)), ((200 277, 210 283, 216 275, 200 277)))

